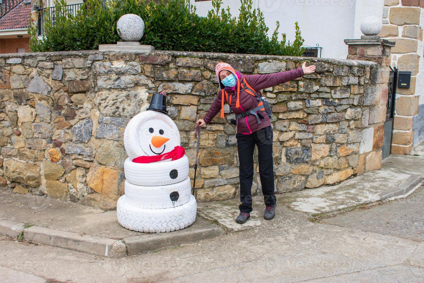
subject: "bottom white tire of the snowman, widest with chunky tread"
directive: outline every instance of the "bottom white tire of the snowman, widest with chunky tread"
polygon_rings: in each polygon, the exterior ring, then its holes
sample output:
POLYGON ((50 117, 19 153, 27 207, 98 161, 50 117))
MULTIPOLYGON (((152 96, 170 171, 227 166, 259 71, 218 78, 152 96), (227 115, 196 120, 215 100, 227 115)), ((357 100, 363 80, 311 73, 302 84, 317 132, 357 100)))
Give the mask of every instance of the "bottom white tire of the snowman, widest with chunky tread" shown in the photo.
POLYGON ((165 209, 145 209, 126 204, 126 195, 117 202, 119 224, 129 230, 163 233, 190 226, 196 219, 197 203, 193 195, 184 205, 165 209))

